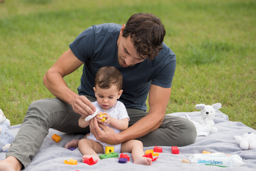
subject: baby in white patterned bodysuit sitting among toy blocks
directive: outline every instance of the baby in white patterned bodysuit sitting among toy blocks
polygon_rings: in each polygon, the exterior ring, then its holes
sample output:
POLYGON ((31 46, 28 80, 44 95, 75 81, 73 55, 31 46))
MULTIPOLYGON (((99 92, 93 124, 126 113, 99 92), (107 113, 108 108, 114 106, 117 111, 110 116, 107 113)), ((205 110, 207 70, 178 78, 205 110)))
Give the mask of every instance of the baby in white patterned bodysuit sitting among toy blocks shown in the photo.
MULTIPOLYGON (((105 66, 98 70, 95 78, 94 92, 97 98, 93 105, 99 109, 97 114, 97 122, 108 125, 116 133, 128 128, 129 116, 126 107, 117 99, 121 96, 122 89, 122 74, 113 66, 105 66), (100 117, 100 115, 104 116, 100 117), (106 118, 105 121, 101 121, 106 118)), ((85 128, 90 121, 85 121, 82 116, 79 119, 79 126, 85 128)), ((152 159, 143 157, 143 144, 138 140, 129 140, 121 144, 111 145, 98 141, 92 133, 87 136, 87 139, 81 139, 78 143, 78 148, 81 151, 84 161, 92 157, 95 160, 100 160, 97 153, 105 153, 106 146, 114 146, 116 153, 132 153, 133 163, 141 165, 152 165, 152 159)))

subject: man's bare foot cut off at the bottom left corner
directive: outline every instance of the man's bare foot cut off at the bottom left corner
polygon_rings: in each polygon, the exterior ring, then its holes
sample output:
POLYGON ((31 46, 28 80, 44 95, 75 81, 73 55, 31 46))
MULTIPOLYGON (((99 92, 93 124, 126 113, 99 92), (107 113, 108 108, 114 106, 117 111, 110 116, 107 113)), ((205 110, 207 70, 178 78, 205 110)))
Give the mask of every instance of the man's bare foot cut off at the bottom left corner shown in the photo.
POLYGON ((20 171, 23 165, 14 156, 8 156, 0 161, 0 166, 0 171, 20 171))

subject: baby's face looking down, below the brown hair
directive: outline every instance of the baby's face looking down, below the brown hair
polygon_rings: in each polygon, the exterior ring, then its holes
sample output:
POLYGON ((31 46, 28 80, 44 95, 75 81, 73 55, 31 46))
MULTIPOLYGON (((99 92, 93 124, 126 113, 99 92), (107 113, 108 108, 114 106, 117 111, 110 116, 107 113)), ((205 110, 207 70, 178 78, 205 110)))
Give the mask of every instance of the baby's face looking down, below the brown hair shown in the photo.
POLYGON ((123 91, 118 91, 116 85, 112 85, 109 89, 101 89, 96 85, 94 92, 98 105, 100 105, 104 111, 107 111, 107 109, 116 104, 117 99, 121 96, 123 91))

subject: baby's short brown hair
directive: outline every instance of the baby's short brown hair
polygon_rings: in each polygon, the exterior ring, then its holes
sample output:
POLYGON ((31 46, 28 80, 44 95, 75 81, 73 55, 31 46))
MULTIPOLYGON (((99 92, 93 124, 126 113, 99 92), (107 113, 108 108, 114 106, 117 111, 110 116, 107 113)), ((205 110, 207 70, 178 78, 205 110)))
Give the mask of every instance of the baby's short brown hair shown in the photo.
POLYGON ((98 70, 95 76, 96 85, 101 89, 109 89, 112 85, 117 86, 117 90, 122 89, 123 76, 114 66, 105 66, 98 70))

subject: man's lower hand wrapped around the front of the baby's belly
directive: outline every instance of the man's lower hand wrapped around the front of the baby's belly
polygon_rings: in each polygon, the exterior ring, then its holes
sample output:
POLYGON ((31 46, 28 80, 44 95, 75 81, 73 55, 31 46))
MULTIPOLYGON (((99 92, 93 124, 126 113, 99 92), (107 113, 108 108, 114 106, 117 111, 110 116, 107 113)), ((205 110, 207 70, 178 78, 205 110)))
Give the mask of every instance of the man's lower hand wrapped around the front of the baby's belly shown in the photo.
POLYGON ((107 143, 107 144, 120 144, 118 140, 118 134, 114 132, 113 129, 104 125, 102 123, 98 123, 96 117, 90 120, 90 131, 97 140, 107 143), (102 130, 101 130, 102 128, 102 130))

